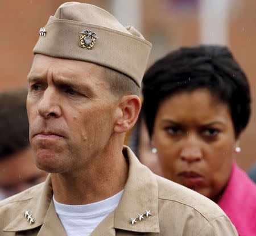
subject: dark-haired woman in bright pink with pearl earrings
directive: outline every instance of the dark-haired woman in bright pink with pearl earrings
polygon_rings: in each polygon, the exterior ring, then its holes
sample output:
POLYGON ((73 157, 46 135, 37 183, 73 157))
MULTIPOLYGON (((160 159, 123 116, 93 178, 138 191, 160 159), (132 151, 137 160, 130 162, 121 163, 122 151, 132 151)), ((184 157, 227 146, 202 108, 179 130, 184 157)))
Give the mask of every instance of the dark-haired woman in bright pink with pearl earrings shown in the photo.
POLYGON ((162 176, 216 202, 239 235, 256 235, 256 186, 234 161, 250 88, 226 47, 180 48, 143 78, 143 115, 162 176))

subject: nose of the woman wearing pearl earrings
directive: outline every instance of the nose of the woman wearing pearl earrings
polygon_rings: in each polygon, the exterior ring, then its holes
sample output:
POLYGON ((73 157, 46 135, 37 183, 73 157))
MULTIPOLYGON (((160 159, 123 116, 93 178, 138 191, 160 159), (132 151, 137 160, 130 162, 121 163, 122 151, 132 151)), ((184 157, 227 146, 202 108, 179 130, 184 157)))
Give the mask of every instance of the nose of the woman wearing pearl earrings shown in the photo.
POLYGON ((185 145, 180 151, 180 158, 184 162, 199 162, 203 158, 203 151, 200 144, 190 143, 185 145))

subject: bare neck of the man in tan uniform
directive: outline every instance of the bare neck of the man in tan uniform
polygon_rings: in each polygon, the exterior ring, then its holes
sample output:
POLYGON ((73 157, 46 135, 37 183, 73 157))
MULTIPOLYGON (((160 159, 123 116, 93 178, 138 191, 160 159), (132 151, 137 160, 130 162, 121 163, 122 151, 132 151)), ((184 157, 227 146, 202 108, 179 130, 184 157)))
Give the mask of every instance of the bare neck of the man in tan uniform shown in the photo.
POLYGON ((95 159, 94 163, 80 172, 52 174, 57 202, 69 205, 95 203, 115 195, 125 187, 129 166, 122 150, 112 156, 104 155, 95 159))

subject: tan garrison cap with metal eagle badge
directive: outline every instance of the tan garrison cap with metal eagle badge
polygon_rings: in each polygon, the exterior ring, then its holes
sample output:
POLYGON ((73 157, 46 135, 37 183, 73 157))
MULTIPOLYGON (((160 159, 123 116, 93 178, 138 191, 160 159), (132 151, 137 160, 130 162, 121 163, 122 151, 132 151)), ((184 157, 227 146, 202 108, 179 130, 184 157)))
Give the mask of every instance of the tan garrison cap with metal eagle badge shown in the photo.
POLYGON ((40 28, 39 35, 34 53, 106 66, 141 86, 151 43, 134 27, 123 27, 104 9, 86 3, 64 3, 40 28))

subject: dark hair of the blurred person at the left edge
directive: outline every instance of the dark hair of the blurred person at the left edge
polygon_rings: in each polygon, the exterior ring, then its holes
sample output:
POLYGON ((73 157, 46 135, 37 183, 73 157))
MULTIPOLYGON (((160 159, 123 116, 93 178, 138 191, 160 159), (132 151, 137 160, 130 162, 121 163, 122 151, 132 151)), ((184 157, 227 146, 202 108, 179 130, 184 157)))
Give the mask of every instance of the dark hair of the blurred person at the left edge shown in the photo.
POLYGON ((26 99, 27 88, 0 94, 0 159, 30 145, 26 99))

